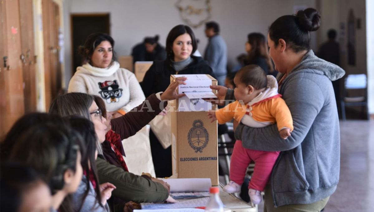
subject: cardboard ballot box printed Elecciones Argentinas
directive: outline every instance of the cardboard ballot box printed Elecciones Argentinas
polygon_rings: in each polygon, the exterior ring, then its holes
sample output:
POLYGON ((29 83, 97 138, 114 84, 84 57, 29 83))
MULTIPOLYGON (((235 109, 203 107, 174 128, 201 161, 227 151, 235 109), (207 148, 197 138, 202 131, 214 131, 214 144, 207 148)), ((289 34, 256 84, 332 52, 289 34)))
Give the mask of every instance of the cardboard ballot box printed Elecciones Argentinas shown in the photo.
MULTIPOLYGON (((217 85, 216 79, 208 77, 211 85, 217 85)), ((174 79, 172 75, 171 81, 174 79)), ((173 175, 211 178, 212 185, 218 185, 217 121, 211 123, 206 111, 178 111, 178 99, 171 106, 173 175)), ((212 109, 215 108, 214 105, 212 109)))

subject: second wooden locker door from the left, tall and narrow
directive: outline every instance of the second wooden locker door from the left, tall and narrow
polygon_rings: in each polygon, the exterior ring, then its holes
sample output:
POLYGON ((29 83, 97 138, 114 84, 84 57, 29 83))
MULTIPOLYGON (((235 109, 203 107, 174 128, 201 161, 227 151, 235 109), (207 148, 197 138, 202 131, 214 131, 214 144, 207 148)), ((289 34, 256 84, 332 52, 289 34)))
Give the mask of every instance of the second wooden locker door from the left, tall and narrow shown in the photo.
POLYGON ((33 1, 19 0, 21 22, 22 67, 24 80, 25 112, 36 111, 36 75, 34 49, 33 1))

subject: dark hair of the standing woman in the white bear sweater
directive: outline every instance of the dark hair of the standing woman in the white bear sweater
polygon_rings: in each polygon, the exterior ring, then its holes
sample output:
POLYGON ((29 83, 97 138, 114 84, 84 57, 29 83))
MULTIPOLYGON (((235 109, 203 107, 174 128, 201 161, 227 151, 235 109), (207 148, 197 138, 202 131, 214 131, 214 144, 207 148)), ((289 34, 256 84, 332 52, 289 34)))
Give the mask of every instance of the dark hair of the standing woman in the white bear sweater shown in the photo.
POLYGON ((116 52, 114 52, 113 38, 105 33, 92 33, 87 37, 85 44, 78 47, 78 53, 83 57, 82 64, 91 62, 93 51, 95 51, 96 47, 103 41, 108 41, 113 48, 113 57, 110 64, 112 64, 114 61, 117 61, 116 52))

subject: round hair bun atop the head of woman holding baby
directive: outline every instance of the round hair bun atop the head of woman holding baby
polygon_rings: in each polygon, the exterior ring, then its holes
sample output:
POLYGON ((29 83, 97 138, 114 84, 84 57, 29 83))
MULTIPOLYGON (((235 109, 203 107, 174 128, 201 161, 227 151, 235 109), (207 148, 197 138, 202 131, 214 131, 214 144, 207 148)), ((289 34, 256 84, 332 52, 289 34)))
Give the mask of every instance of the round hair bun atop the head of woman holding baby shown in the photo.
POLYGON ((296 13, 296 17, 301 30, 316 31, 321 26, 321 15, 314 8, 299 10, 296 13))

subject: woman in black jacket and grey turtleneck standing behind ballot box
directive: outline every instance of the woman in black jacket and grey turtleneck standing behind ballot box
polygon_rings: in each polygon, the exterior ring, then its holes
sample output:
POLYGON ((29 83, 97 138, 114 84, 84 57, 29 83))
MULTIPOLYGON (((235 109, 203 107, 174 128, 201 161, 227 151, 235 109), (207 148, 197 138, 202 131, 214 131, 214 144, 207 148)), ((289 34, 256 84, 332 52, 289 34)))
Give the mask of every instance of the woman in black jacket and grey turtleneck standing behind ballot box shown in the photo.
MULTIPOLYGON (((165 90, 170 85, 171 74, 210 74, 215 77, 203 58, 193 56, 196 49, 197 42, 190 27, 177 25, 172 28, 166 38, 166 60, 154 61, 141 82, 144 94, 148 96, 165 90)), ((156 176, 171 176, 171 147, 164 149, 152 129, 149 138, 156 176)))

